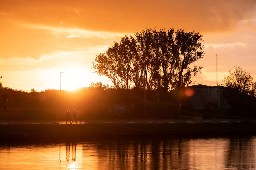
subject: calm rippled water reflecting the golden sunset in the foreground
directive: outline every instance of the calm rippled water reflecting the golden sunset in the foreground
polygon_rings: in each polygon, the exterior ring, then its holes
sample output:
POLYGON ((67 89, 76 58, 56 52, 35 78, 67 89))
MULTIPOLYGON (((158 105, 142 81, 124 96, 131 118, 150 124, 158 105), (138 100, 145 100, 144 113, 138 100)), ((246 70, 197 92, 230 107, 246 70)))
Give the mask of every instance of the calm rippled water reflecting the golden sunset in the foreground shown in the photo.
POLYGON ((0 144, 0 169, 256 169, 256 136, 0 144))

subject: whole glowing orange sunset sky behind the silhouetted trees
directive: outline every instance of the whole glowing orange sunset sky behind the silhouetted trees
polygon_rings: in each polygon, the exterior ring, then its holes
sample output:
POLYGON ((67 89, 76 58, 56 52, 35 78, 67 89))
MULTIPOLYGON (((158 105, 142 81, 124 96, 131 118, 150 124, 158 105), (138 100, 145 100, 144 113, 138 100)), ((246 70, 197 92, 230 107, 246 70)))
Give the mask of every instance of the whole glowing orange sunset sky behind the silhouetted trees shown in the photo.
POLYGON ((256 81, 255 0, 0 0, 0 80, 18 90, 88 87, 107 78, 92 62, 120 37, 147 28, 203 35, 203 69, 192 80, 218 84, 234 66, 256 81))

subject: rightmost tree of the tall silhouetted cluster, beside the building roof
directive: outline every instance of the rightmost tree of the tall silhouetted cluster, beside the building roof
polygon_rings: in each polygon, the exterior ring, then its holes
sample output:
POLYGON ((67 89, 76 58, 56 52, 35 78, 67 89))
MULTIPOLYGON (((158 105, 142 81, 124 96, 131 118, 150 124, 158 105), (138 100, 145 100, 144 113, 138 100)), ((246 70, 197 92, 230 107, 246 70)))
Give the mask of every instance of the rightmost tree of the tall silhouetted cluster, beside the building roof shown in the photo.
POLYGON ((175 32, 172 45, 171 60, 171 89, 180 89, 191 83, 191 74, 196 75, 202 69, 200 66, 191 66, 203 57, 204 46, 201 44, 202 35, 199 33, 175 32))

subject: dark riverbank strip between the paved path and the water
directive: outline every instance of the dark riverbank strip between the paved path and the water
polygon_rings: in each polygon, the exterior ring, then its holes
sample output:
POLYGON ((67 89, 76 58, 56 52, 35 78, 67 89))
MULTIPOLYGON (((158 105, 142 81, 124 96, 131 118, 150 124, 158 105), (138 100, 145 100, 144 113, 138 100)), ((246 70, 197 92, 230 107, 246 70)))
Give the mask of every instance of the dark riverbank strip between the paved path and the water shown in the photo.
POLYGON ((83 139, 102 136, 256 134, 256 120, 108 120, 1 122, 1 140, 83 139))

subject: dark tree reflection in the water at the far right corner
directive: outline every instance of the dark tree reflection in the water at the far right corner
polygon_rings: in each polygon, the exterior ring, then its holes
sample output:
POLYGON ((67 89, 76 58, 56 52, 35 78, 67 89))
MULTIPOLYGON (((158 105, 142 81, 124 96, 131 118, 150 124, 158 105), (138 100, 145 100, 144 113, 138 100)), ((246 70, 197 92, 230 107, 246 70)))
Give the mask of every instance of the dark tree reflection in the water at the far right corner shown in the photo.
POLYGON ((254 149, 252 138, 231 138, 227 149, 225 168, 255 168, 254 149))

